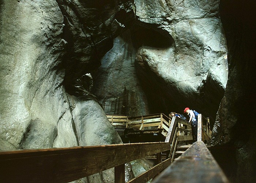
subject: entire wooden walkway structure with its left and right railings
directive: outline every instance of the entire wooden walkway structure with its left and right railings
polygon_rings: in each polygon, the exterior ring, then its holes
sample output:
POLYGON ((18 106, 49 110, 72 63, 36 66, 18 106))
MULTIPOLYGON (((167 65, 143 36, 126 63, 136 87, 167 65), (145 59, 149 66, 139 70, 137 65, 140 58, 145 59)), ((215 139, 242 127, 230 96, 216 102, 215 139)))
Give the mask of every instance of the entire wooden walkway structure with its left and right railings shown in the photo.
MULTIPOLYGON (((153 115, 154 120, 149 120, 147 117, 141 117, 141 120, 129 121, 129 117, 123 118, 123 122, 117 122, 125 127, 129 125, 135 127, 135 131, 150 131, 147 129, 151 125, 154 126, 162 135, 166 134, 164 142, 151 142, 151 143, 128 143, 128 144, 112 144, 112 145, 99 145, 99 146, 86 146, 86 147, 70 147, 70 148, 50 148, 50 149, 30 149, 10 152, 0 152, 0 182, 71 182, 89 175, 93 175, 109 168, 114 167, 115 183, 125 183, 125 163, 137 160, 140 158, 146 158, 148 156, 154 156, 157 160, 157 165, 150 168, 150 170, 137 176, 134 179, 129 180, 129 183, 146 183, 148 180, 155 178, 162 170, 169 167, 174 160, 177 144, 180 142, 191 141, 193 138, 190 135, 191 124, 178 117, 173 117, 172 120, 165 121, 162 118, 166 117, 160 114, 153 115), (146 122, 144 120, 147 120, 146 122), (135 121, 135 122, 134 122, 135 121), (139 123, 137 123, 139 121, 139 123), (129 123, 130 122, 130 123, 129 123), (169 125, 166 131, 165 125, 169 125), (164 132, 164 133, 162 133, 164 132), (166 133, 167 132, 167 133, 166 133), (164 157, 163 157, 164 156, 164 157)), ((204 130, 202 126, 202 117, 199 115, 199 128, 197 141, 208 141, 210 134, 204 130), (201 139, 200 139, 201 138, 201 139)), ((114 124, 114 116, 112 124, 114 124)), ((118 126, 116 125, 116 126, 118 126)), ((204 143, 201 143, 204 145, 204 143)), ((194 144, 193 144, 194 145, 194 144)), ((191 146, 192 147, 192 146, 191 146)), ((189 149, 191 149, 191 147, 189 149)), ((189 149, 187 151, 189 151, 189 149)), ((215 172, 222 172, 217 166, 212 156, 209 156, 210 152, 201 153, 201 147, 197 148, 196 154, 191 154, 190 163, 200 164, 206 168, 198 171, 201 172, 197 178, 198 182, 212 182, 216 178, 215 172), (197 153, 201 153, 198 158, 197 153), (202 163, 202 159, 207 160, 202 163), (199 162, 200 161, 200 162, 199 162), (207 162, 211 162, 211 168, 208 170, 207 162), (207 179, 204 177, 207 174, 207 179)), ((182 156, 186 156, 187 151, 181 155, 176 161, 180 161, 182 156)), ((204 151, 204 150, 203 150, 204 151)), ((174 162, 176 162, 174 161, 174 162)), ((195 173, 194 170, 188 169, 186 164, 182 163, 176 171, 180 172, 180 180, 185 180, 184 176, 195 173), (186 169, 186 170, 185 170, 186 169), (184 172, 184 173, 182 173, 184 172)), ((177 166, 178 167, 178 166, 177 166)), ((172 168, 171 168, 172 169, 172 168)), ((168 168, 169 170, 169 168, 168 168)), ((172 169, 173 170, 173 169, 172 169)), ((166 170, 167 171, 167 170, 166 170)), ((165 171, 163 171, 164 173, 165 171)), ((169 174, 168 172, 167 174, 169 174)), ((176 174, 176 173, 175 173, 176 174)), ((226 182, 225 175, 219 173, 218 180, 226 182)), ((156 178, 154 181, 168 181, 172 182, 174 178, 166 177, 162 175, 156 178), (169 179, 169 180, 168 180, 169 179)), ((189 179, 190 181, 190 179, 189 179)))

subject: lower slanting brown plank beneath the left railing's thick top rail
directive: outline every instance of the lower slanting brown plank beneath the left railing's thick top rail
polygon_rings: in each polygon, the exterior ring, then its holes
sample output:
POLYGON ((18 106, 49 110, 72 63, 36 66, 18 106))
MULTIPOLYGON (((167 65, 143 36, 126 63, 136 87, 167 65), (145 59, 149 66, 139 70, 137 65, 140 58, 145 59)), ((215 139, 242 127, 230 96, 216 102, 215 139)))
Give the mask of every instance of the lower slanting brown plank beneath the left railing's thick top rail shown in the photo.
POLYGON ((161 172, 170 164, 171 164, 171 159, 168 158, 167 160, 163 161, 162 163, 157 164, 156 166, 150 168, 150 170, 144 172, 143 174, 129 180, 127 183, 146 183, 150 179, 154 178, 154 176, 157 175, 158 172, 161 172))

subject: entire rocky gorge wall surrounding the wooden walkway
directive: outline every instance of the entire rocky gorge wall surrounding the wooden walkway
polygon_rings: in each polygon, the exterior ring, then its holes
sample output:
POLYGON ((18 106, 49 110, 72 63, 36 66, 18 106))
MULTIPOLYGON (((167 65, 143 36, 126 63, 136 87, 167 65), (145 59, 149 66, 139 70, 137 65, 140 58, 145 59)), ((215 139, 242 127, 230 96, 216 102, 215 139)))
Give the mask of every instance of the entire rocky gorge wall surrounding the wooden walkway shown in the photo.
MULTIPOLYGON (((213 126, 219 109, 214 153, 232 180, 249 176, 255 140, 240 133, 238 109, 255 104, 255 27, 220 3, 221 13, 214 0, 0 0, 0 150, 122 143, 106 113, 188 106, 213 126)), ((110 180, 112 170, 79 181, 110 180)))

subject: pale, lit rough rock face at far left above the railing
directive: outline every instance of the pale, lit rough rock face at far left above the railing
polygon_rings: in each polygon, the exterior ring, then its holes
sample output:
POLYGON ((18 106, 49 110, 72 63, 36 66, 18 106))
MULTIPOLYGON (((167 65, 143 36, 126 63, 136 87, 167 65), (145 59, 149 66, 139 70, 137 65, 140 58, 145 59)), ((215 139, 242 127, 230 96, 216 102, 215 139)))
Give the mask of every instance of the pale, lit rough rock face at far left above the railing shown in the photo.
POLYGON ((1 1, 0 18, 1 139, 15 148, 52 147, 69 108, 59 67, 63 16, 56 1, 20 0, 1 1))

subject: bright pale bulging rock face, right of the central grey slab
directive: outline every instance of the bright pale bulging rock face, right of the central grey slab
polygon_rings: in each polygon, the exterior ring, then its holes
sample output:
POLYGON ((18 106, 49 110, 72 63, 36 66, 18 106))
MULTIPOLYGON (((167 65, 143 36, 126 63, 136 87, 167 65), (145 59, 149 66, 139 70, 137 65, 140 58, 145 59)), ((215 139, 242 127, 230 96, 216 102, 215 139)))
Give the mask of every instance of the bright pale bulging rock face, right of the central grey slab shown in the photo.
POLYGON ((181 112, 189 106, 215 119, 228 73, 218 1, 138 0, 136 6, 141 25, 163 35, 159 40, 149 35, 155 43, 144 41, 136 54, 143 85, 157 88, 158 109, 181 112))

